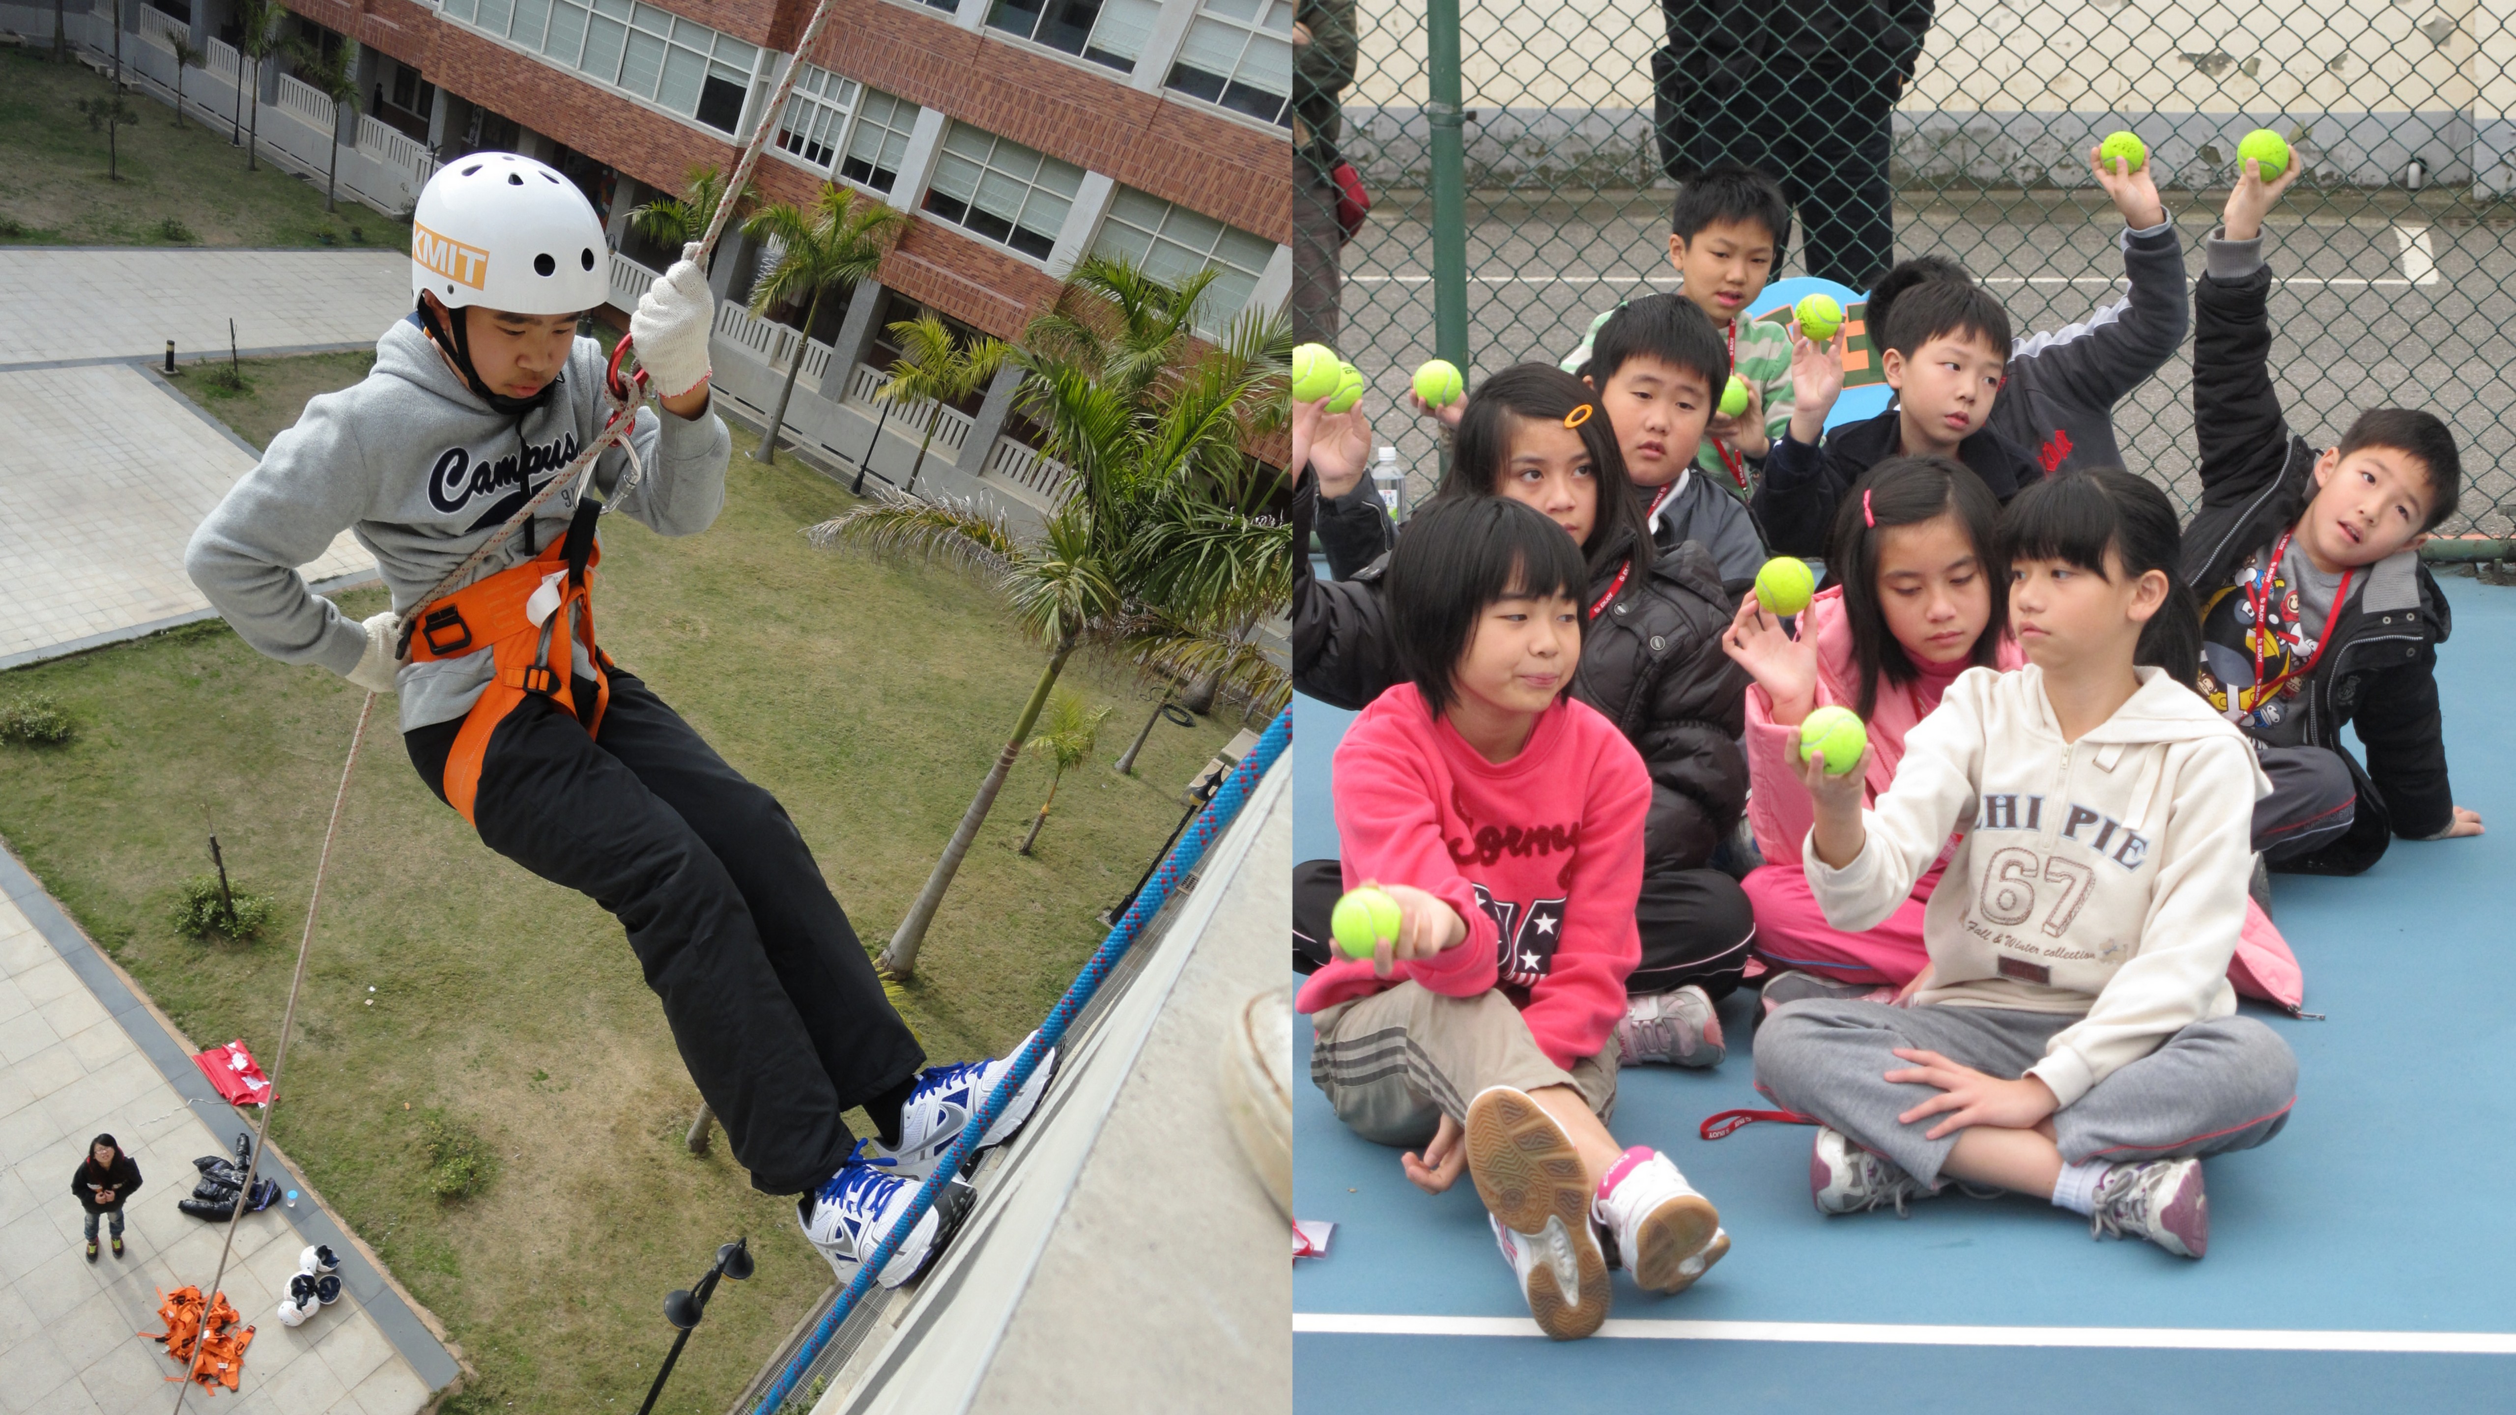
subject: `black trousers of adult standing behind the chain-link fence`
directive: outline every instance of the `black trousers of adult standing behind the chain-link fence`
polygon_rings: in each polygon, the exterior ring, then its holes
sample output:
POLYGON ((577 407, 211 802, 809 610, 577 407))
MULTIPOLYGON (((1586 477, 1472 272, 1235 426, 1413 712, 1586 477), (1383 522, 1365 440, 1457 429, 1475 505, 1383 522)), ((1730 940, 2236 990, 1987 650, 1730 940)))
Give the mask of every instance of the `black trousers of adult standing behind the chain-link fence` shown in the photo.
POLYGON ((1678 98, 1683 151, 1673 174, 1721 161, 1754 166, 1781 184, 1799 211, 1809 274, 1869 290, 1895 264, 1895 98, 1867 76, 1779 55, 1736 93, 1693 88, 1678 98))

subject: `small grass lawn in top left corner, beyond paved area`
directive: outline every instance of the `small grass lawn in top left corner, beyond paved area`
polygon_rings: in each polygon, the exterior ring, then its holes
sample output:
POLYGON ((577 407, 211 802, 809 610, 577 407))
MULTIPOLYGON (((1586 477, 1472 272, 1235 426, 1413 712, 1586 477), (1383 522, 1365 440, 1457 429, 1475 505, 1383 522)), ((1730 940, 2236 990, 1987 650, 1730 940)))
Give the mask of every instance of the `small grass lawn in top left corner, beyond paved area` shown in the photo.
MULTIPOLYGON (((146 43, 123 35, 123 43, 146 43)), ((123 101, 136 116, 118 128, 121 181, 106 176, 106 133, 88 131, 81 101, 113 86, 81 63, 53 63, 50 48, 0 50, 0 244, 211 244, 410 249, 410 227, 340 196, 322 209, 322 181, 272 166, 244 169, 226 123, 204 126, 148 93, 123 101), (184 232, 166 234, 166 222, 184 232)))

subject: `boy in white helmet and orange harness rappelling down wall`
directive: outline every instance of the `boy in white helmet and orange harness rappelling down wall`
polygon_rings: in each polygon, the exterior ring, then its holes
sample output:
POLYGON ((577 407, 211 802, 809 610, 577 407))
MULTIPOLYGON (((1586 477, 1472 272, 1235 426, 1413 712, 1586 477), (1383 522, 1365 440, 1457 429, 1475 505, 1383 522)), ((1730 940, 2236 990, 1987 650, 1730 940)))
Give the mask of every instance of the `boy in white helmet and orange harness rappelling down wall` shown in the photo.
MULTIPOLYGON (((599 516, 704 531, 730 451, 710 413, 707 274, 682 259, 629 320, 662 415, 639 408, 581 486, 533 504, 604 436, 604 352, 576 320, 604 302, 606 262, 594 206, 548 166, 473 154, 438 171, 413 219, 418 307, 362 383, 272 438, 184 564, 264 655, 400 692, 428 788, 488 848, 621 922, 735 1158, 755 1188, 800 1193, 805 1234, 848 1282, 1011 1057, 921 1070, 785 808, 596 647, 599 516), (392 589, 365 624, 294 569, 342 529, 392 589), (850 1105, 878 1146, 848 1133, 850 1105)), ((1011 1138, 1047 1080, 1042 1065, 981 1146, 1011 1138)), ((969 1204, 954 1181, 881 1282, 923 1271, 969 1204)))

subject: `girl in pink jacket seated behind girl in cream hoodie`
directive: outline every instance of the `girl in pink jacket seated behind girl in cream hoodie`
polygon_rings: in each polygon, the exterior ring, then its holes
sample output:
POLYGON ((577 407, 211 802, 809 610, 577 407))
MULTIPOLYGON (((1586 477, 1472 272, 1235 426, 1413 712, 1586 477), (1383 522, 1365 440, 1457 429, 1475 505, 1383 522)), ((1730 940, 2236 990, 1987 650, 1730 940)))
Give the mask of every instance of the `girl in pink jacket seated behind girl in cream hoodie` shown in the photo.
MULTIPOLYGON (((1781 969, 1764 1010, 1799 997, 1895 997, 1922 972, 1922 911, 1940 886, 1950 836, 1912 894, 1879 927, 1827 924, 1809 896, 1799 846, 1809 793, 1799 788, 1799 723, 1817 708, 1852 708, 1869 728, 1864 801, 1877 801, 1905 758, 1905 733, 1927 718, 1968 667, 2010 672, 2025 655, 2008 634, 2008 587, 1993 574, 2000 506, 1947 458, 1887 458, 1852 488, 1834 519, 1827 564, 1837 584, 1786 634, 1749 594, 1723 637, 1756 685, 1746 692, 1749 826, 1769 861, 1741 881, 1756 909, 1756 954, 1781 969)), ((2252 901, 2229 969, 2249 997, 2302 1002, 2297 959, 2252 901)))

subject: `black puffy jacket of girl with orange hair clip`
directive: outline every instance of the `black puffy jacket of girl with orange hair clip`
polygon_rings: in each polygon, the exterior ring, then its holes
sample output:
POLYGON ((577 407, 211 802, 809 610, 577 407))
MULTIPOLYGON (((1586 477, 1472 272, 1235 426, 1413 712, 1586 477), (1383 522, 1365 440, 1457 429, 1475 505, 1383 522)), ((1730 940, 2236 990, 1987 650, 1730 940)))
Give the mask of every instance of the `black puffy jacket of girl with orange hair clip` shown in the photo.
MULTIPOLYGON (((1344 501, 1344 499, 1339 499, 1344 501)), ((1293 544, 1308 546, 1318 481, 1293 493, 1293 544)), ((1386 516, 1384 516, 1386 524, 1386 516)), ((1328 536, 1321 536, 1328 541, 1328 536)), ((1399 682, 1381 574, 1389 556, 1318 584, 1293 564, 1293 687, 1361 710, 1399 682)), ((1608 579, 1590 592, 1605 594, 1608 579)), ((1701 869, 1746 811, 1746 670, 1721 652, 1734 604, 1703 546, 1643 551, 1615 602, 1583 632, 1572 697, 1608 715, 1650 768, 1643 869, 1701 869), (1645 574, 1648 567, 1648 574, 1645 574)))

